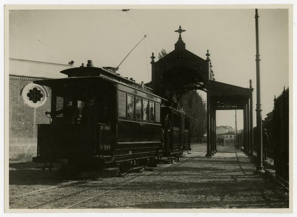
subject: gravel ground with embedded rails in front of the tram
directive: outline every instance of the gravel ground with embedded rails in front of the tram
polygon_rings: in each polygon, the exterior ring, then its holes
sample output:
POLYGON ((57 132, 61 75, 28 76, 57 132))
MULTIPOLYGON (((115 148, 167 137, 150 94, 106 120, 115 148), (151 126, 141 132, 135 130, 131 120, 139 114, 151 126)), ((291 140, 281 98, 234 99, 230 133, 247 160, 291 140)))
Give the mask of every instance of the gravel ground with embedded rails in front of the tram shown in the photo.
POLYGON ((192 144, 180 163, 126 177, 61 180, 34 163, 9 164, 10 209, 288 208, 289 195, 234 147, 192 144), (32 192, 33 191, 33 192, 32 192))

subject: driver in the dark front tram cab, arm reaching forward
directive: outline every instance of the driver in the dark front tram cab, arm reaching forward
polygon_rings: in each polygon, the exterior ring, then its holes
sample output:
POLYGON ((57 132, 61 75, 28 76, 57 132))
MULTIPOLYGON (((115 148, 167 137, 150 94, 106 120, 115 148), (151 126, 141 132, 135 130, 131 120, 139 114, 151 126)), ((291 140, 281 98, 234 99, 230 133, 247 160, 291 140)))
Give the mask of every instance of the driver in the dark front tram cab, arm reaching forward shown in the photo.
MULTIPOLYGON (((52 114, 52 112, 46 111, 46 115, 52 114)), ((80 119, 80 111, 73 105, 72 100, 67 100, 66 108, 60 109, 54 112, 54 115, 63 114, 63 118, 66 123, 78 123, 80 119)))

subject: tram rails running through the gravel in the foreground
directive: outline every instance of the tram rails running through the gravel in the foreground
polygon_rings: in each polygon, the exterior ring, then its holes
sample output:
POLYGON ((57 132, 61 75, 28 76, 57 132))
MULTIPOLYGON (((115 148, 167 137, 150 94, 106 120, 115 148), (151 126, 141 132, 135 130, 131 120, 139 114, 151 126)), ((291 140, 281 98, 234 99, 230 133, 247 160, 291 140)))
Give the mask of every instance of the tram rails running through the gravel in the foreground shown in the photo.
MULTIPOLYGON (((137 176, 137 177, 132 177, 131 179, 129 180, 124 180, 124 182, 122 183, 119 183, 117 184, 116 186, 114 187, 111 187, 107 190, 104 190, 102 192, 99 192, 97 194, 94 194, 93 196, 90 196, 90 197, 87 197, 83 200, 80 200, 80 201, 77 201, 73 204, 70 204, 70 205, 67 205, 65 206, 63 209, 70 209, 70 208, 73 208, 74 206, 76 205, 79 205, 85 201, 88 201, 88 200, 91 200, 92 198, 96 198, 98 197, 99 195, 102 195, 102 194, 105 194, 109 191, 112 191, 114 189, 117 189, 117 188, 120 188, 121 186, 124 186, 124 185, 127 185, 131 182, 134 182, 136 180, 139 180, 139 179, 142 179, 156 171, 160 171, 161 169, 164 169, 166 167, 170 167, 170 166, 178 166, 178 165, 181 165, 183 163, 186 163, 186 162, 189 162, 189 161, 192 161, 198 157, 200 157, 201 155, 205 155, 205 152, 203 152, 202 154, 199 154, 198 156, 195 156, 195 157, 189 157, 187 159, 181 159, 181 162, 178 162, 178 163, 174 163, 174 164, 165 164, 165 165, 162 165, 160 167, 157 167, 155 170, 153 171, 149 171, 148 173, 146 174, 142 174, 141 176, 137 176)), ((16 196, 10 196, 9 199, 18 199, 18 198, 23 198, 23 197, 26 197, 26 196, 37 196, 37 195, 41 195, 41 194, 47 194, 47 193, 50 193, 50 192, 53 192, 53 191, 58 191, 58 190, 63 190, 63 189, 67 189, 69 187, 79 187, 79 186, 84 186, 86 184, 90 185, 90 184, 96 184, 96 183, 100 183, 101 180, 96 180, 96 181, 89 181, 89 180, 76 180, 76 181, 67 181, 67 182, 63 182, 63 183, 60 183, 58 185, 54 185, 54 186, 50 186, 50 187, 47 187, 47 188, 42 188, 42 189, 38 189, 38 190, 35 190, 35 191, 30 191, 30 192, 27 192, 27 193, 24 193, 24 194, 20 194, 20 195, 16 195, 16 196)), ((88 187, 88 188, 92 188, 92 187, 88 187)), ((77 192, 74 192, 72 194, 69 194, 68 196, 73 196, 74 194, 79 194, 80 192, 83 192, 83 191, 86 191, 86 190, 81 190, 81 191, 77 191, 77 192)), ((60 199, 64 199, 64 198, 67 198, 67 196, 64 196, 62 198, 59 198, 59 199, 56 199, 56 200, 52 200, 50 202, 57 202, 58 200, 60 199)), ((50 203, 49 202, 49 203, 50 203)), ((47 204, 48 202, 46 202, 45 204, 47 204)), ((35 209, 38 209, 40 205, 37 205, 33 208, 35 209)))

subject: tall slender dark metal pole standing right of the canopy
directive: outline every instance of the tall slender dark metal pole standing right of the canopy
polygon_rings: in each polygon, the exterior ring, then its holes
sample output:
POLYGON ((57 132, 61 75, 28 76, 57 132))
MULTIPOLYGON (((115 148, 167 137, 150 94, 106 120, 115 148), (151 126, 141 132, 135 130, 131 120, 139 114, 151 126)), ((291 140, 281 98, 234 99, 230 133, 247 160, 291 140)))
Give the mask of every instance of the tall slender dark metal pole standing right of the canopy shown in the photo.
POLYGON ((258 32, 258 9, 255 9, 255 27, 256 27, 256 86, 257 86, 257 104, 256 104, 256 118, 257 118, 257 165, 254 173, 263 173, 262 162, 262 108, 260 99, 260 54, 259 54, 259 32, 258 32))

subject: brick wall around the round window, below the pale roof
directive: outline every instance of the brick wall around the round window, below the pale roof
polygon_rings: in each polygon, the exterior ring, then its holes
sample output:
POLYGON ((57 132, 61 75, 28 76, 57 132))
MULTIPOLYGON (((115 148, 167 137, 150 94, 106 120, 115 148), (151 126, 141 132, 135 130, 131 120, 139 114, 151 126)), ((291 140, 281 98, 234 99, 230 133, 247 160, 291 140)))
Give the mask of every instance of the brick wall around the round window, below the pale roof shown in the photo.
POLYGON ((37 124, 49 123, 50 89, 47 102, 38 108, 24 103, 21 90, 34 78, 9 76, 9 159, 31 159, 36 156, 37 124))

